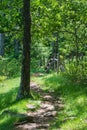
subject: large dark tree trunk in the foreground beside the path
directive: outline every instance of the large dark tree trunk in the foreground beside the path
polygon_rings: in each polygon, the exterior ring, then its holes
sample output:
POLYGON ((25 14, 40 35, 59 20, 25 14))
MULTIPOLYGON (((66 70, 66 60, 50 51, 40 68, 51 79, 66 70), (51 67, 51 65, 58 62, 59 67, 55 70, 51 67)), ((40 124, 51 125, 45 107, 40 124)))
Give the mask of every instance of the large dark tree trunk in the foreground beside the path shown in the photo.
POLYGON ((30 44, 31 44, 31 18, 30 0, 23 0, 23 60, 21 71, 21 83, 17 99, 28 98, 30 96, 30 44))

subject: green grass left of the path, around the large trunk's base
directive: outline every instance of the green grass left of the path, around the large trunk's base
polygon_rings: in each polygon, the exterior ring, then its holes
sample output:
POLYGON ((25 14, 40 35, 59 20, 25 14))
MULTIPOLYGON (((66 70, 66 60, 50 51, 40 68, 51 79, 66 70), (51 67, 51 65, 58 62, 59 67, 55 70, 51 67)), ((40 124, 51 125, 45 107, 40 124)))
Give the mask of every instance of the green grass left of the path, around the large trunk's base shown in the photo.
POLYGON ((33 104, 36 108, 39 107, 40 101, 37 96, 34 99, 25 99, 16 101, 20 78, 3 79, 0 81, 0 130, 14 130, 14 124, 19 120, 19 117, 4 113, 10 110, 16 113, 26 113, 27 104, 33 104))

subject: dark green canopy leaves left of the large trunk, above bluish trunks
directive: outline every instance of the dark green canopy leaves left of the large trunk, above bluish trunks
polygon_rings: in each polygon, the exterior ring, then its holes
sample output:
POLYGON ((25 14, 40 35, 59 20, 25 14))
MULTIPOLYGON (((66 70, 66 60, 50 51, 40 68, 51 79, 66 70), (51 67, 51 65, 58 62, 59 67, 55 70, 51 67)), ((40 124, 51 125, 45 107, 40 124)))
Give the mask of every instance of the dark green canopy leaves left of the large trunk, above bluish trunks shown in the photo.
POLYGON ((21 11, 22 1, 7 1, 0 2, 0 31, 10 32, 10 30, 16 30, 21 26, 21 11), (5 16, 5 17, 4 17, 5 16))

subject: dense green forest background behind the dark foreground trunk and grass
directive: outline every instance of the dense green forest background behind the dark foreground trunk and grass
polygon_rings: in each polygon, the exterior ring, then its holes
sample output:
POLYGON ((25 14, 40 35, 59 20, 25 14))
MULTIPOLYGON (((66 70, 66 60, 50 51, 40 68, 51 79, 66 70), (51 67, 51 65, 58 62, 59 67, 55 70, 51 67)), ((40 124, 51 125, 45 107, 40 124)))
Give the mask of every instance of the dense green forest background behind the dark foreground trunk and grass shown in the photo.
MULTIPOLYGON (((0 6, 0 75, 11 77, 20 72, 23 5, 5 0, 0 6)), ((86 6, 84 0, 31 2, 31 70, 45 68, 86 78, 86 6)))

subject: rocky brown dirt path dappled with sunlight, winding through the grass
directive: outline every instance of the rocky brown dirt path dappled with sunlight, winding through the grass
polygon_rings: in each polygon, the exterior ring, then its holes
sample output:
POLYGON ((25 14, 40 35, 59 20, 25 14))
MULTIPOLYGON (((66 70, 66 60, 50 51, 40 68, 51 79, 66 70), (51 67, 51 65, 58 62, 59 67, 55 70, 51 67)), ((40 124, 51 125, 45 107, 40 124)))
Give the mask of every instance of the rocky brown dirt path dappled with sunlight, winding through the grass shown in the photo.
POLYGON ((27 104, 27 119, 18 122, 16 130, 50 130, 50 123, 55 123, 57 111, 63 108, 61 98, 55 98, 53 92, 45 92, 36 83, 31 82, 31 90, 41 97, 39 109, 33 111, 33 105, 27 104))

